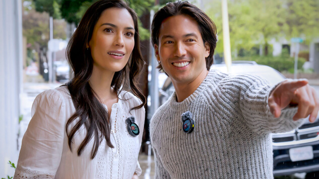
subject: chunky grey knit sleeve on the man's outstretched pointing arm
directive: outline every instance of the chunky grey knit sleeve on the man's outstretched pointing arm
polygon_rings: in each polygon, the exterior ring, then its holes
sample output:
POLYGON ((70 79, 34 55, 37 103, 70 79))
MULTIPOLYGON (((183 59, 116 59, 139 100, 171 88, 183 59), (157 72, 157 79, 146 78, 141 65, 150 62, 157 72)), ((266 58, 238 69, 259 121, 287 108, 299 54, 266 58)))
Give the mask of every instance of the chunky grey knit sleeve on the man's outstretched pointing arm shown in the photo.
POLYGON ((234 84, 240 89, 239 105, 242 115, 255 133, 288 132, 302 124, 303 120, 292 120, 297 112, 296 107, 283 109, 279 118, 275 118, 270 112, 268 98, 278 84, 271 87, 267 80, 250 74, 238 75, 234 84))

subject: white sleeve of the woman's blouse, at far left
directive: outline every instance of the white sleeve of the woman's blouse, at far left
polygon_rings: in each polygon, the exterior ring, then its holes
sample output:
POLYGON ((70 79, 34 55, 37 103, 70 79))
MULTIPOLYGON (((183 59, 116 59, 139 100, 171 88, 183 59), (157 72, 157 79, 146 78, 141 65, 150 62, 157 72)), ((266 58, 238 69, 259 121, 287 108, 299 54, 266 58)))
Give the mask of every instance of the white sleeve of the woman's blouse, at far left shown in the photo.
POLYGON ((65 133, 65 102, 57 90, 38 95, 23 136, 14 178, 55 178, 65 133))

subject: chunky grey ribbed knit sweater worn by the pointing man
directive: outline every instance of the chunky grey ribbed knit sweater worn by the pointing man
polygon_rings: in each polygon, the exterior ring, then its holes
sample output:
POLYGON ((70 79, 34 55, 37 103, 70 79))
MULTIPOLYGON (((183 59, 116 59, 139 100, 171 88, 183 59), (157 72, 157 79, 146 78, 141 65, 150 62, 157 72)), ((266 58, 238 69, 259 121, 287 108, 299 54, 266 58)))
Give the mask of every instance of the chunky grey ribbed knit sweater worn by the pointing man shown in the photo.
POLYGON ((249 74, 210 70, 183 102, 175 92, 154 114, 150 137, 155 178, 273 178, 271 133, 301 125, 296 108, 274 118, 268 106, 268 81, 249 74), (192 133, 184 133, 181 115, 190 111, 192 133))

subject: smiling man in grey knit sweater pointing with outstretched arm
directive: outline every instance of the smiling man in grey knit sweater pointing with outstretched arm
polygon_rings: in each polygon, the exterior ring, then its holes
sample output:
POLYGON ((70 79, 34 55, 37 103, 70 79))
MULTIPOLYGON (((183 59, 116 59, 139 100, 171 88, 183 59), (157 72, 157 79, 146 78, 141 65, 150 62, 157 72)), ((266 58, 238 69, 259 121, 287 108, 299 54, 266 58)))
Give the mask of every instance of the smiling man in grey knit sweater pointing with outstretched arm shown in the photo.
POLYGON ((175 92, 154 114, 156 178, 273 178, 271 133, 318 113, 306 80, 264 79, 210 70, 216 26, 188 2, 168 3, 152 23, 158 67, 175 92))

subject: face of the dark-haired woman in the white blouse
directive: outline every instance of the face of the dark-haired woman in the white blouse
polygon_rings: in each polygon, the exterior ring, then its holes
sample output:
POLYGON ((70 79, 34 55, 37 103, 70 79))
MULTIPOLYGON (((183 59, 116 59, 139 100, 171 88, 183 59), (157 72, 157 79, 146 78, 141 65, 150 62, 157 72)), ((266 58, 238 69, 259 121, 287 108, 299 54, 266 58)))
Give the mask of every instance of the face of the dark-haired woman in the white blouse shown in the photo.
POLYGON ((87 44, 94 68, 111 72, 123 69, 134 48, 134 33, 133 18, 126 9, 104 10, 87 44))

